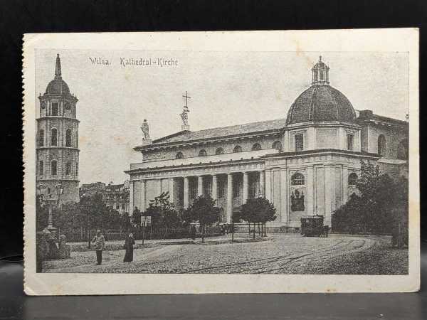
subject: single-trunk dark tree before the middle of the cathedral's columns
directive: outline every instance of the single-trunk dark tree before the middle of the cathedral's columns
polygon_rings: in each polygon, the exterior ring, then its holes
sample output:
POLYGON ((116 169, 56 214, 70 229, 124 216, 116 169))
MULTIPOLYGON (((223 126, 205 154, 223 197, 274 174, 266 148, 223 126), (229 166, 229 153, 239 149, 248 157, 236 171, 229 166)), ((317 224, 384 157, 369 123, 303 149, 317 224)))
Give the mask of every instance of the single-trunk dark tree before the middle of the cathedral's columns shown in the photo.
POLYGON ((204 242, 206 227, 216 223, 221 215, 221 209, 211 196, 199 196, 186 211, 186 219, 198 221, 201 228, 201 242, 204 242))

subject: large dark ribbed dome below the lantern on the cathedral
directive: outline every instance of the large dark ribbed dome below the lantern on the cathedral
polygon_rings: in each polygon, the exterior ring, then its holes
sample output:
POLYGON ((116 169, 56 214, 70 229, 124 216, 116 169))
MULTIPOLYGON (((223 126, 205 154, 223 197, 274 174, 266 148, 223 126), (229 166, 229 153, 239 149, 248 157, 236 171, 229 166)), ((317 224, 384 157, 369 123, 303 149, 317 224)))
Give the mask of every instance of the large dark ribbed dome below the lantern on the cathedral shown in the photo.
POLYGON ((330 85, 312 85, 292 103, 286 125, 299 122, 356 122, 347 97, 330 85))

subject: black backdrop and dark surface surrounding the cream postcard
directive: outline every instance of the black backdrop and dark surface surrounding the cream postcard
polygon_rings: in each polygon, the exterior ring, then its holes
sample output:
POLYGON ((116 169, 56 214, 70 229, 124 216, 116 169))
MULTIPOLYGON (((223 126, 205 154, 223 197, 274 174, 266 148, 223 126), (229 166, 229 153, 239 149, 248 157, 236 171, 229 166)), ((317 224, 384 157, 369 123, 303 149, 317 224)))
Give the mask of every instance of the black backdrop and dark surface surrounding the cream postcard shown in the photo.
MULTIPOLYGON (((427 54, 426 21, 424 0, 0 0, 0 159, 4 163, 0 257, 20 255, 23 248, 23 33, 418 27, 422 88, 427 75, 423 63, 427 54)), ((425 90, 420 94, 422 156, 425 90)), ((421 170, 421 188, 423 181, 426 171, 421 170)), ((422 201, 421 212, 424 206, 422 201)), ((422 215, 421 237, 427 238, 426 219, 422 215)), ((426 261, 423 255, 424 274, 426 261)), ((0 262, 0 319, 422 319, 423 304, 425 292, 25 297, 22 266, 0 262)))

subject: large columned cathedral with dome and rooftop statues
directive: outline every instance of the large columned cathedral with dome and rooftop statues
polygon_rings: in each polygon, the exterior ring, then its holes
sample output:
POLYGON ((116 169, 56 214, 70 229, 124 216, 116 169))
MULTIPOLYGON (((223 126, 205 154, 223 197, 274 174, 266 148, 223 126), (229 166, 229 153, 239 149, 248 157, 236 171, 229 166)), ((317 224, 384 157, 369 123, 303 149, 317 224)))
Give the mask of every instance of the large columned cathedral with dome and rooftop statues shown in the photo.
MULTIPOLYGON (((186 97, 187 98, 187 97, 186 97)), ((322 58, 312 68, 312 85, 296 98, 285 119, 190 131, 184 107, 180 132, 149 139, 143 124, 141 163, 130 164, 130 208, 144 210, 168 191, 178 209, 210 194, 223 223, 248 198, 273 201, 276 227, 299 228, 303 215, 323 215, 357 193, 361 160, 378 163, 394 176, 405 174, 408 122, 357 112, 330 85, 322 58)))

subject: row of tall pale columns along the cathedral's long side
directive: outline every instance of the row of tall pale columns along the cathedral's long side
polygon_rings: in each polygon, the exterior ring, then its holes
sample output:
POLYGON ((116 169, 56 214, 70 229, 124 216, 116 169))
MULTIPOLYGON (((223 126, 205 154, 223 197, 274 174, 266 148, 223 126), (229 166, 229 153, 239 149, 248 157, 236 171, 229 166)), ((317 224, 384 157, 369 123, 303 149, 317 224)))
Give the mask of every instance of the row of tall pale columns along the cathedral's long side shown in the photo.
POLYGON ((169 192, 177 210, 188 208, 198 196, 209 195, 223 209, 221 222, 231 223, 233 210, 240 210, 248 198, 265 193, 265 171, 263 164, 246 163, 131 174, 133 208, 148 208, 149 200, 162 192, 169 192))

